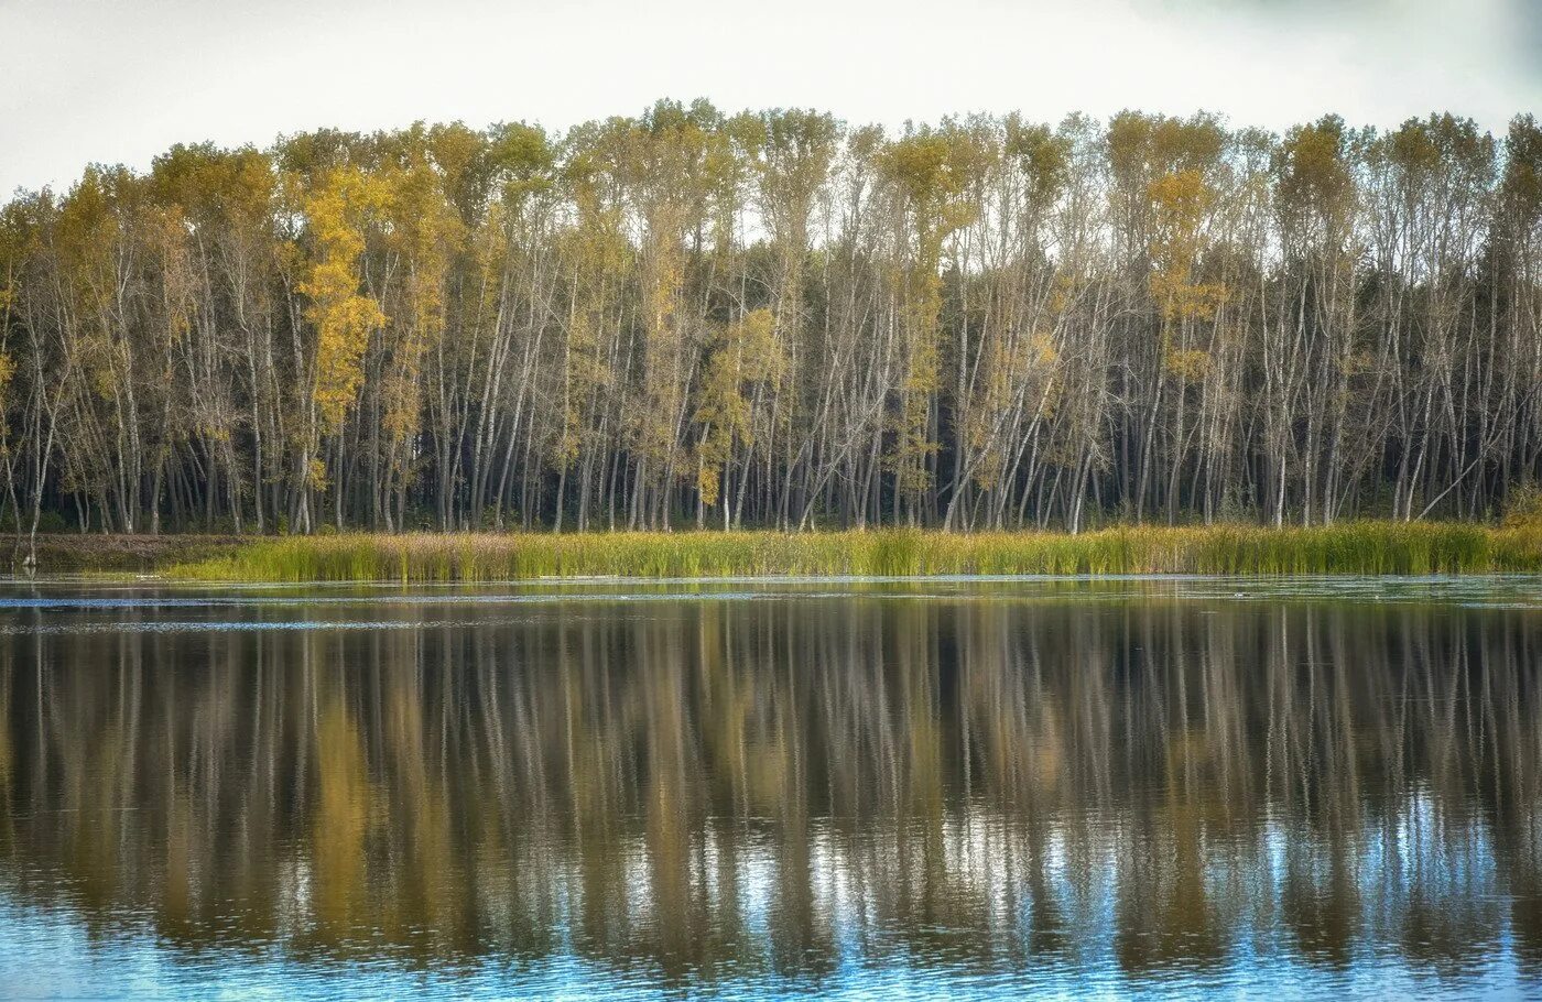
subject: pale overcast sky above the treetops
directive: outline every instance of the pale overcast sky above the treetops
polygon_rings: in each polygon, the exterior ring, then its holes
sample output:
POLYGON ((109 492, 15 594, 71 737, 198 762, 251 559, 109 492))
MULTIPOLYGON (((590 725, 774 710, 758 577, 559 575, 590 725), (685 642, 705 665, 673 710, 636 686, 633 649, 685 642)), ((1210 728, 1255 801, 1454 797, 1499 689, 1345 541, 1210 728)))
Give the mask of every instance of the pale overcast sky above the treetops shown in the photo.
POLYGON ((0 0, 0 194, 176 142, 416 119, 566 128, 657 97, 1218 111, 1281 129, 1542 111, 1542 0, 0 0))

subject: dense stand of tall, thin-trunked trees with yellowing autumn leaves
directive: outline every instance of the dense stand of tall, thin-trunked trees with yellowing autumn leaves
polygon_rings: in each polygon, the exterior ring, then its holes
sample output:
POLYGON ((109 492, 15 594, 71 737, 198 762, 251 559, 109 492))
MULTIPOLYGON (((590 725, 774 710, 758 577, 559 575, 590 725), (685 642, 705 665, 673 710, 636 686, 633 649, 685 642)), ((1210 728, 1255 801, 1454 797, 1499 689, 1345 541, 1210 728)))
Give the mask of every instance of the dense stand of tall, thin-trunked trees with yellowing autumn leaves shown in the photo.
POLYGON ((19 533, 1482 519, 1539 388, 1533 116, 663 100, 0 210, 19 533))

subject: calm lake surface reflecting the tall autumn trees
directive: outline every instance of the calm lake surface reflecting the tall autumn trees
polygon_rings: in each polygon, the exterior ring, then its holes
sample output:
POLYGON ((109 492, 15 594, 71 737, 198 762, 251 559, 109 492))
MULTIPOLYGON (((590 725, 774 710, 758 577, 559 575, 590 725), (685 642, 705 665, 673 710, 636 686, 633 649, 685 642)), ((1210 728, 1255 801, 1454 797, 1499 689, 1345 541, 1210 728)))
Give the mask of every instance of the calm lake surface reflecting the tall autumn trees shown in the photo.
POLYGON ((0 996, 1542 996, 1539 686, 1534 578, 0 586, 0 996))

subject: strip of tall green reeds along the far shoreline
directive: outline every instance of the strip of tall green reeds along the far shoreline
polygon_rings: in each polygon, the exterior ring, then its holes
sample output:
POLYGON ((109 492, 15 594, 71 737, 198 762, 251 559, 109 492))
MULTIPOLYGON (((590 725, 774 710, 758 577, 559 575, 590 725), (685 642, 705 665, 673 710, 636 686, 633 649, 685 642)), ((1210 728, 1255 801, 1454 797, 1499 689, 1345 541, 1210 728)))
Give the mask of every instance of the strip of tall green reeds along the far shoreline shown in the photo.
POLYGON ((1311 529, 1123 527, 1082 535, 914 530, 336 535, 261 540, 183 580, 507 581, 549 577, 1542 572, 1542 526, 1362 521, 1311 529))

